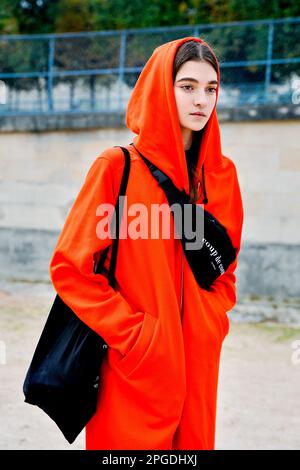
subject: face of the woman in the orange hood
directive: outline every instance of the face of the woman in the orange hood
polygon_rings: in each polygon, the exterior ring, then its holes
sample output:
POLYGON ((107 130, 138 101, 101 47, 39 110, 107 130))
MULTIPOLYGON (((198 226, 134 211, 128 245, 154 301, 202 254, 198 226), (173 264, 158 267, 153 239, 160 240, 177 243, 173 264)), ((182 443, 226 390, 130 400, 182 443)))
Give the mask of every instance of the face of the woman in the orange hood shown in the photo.
POLYGON ((192 132, 203 129, 210 118, 216 102, 217 80, 217 73, 208 62, 189 60, 177 72, 174 94, 185 148, 189 148, 192 132))

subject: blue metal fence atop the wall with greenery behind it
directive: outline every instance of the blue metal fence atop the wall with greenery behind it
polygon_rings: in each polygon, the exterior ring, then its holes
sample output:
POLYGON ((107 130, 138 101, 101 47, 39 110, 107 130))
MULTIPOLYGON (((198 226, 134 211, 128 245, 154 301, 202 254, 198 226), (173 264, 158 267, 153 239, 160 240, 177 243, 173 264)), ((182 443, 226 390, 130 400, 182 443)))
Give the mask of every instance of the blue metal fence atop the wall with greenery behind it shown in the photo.
POLYGON ((0 114, 123 112, 153 50, 196 36, 221 66, 218 107, 300 103, 300 18, 0 36, 0 114))

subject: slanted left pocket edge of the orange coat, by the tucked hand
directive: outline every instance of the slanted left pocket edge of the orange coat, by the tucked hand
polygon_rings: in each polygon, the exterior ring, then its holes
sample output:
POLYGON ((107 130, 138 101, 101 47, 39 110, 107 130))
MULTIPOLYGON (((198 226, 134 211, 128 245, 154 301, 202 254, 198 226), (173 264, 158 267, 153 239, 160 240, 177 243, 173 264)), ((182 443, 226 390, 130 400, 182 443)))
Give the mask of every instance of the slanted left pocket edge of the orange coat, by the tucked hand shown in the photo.
POLYGON ((145 312, 136 342, 125 356, 117 359, 116 366, 126 377, 143 361, 152 342, 157 323, 158 318, 145 312))

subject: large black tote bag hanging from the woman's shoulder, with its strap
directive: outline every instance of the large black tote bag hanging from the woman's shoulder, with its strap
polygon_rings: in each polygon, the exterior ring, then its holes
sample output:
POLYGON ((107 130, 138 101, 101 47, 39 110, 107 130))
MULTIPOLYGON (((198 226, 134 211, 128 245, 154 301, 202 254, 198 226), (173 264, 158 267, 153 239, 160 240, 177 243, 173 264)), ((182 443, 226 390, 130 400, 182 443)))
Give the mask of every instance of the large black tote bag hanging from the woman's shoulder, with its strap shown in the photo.
MULTIPOLYGON (((119 214, 121 220, 123 212, 119 198, 126 193, 130 171, 129 152, 126 148, 122 150, 125 166, 115 207, 116 237, 108 272, 112 287, 115 285, 119 214)), ((108 249, 103 250, 97 264, 94 262, 95 274, 101 273, 108 249)), ((27 371, 23 392, 24 401, 47 413, 70 444, 96 411, 100 368, 106 351, 103 338, 82 322, 57 294, 27 371)))

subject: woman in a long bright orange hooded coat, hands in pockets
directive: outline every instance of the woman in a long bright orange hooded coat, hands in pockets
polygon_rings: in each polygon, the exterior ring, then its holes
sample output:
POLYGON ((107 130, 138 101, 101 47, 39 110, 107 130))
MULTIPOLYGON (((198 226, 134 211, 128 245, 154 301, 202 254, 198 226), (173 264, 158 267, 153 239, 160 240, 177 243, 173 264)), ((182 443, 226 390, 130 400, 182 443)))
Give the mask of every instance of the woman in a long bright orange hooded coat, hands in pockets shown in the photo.
MULTIPOLYGON (((201 39, 186 37, 154 50, 127 107, 126 125, 137 134, 127 146, 127 206, 143 204, 151 213, 152 204, 167 203, 141 153, 192 202, 206 204, 238 252, 243 207, 234 163, 221 152, 219 85, 217 59, 201 39)), ((123 168, 118 147, 94 161, 50 263, 58 294, 109 346, 86 448, 213 449, 237 259, 204 290, 178 238, 161 232, 158 238, 127 237, 119 242, 117 287, 110 287, 103 274, 93 273, 94 254, 112 242, 96 236, 96 209, 115 205, 123 168)))

